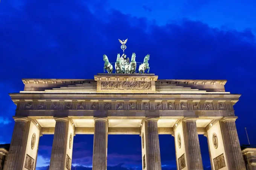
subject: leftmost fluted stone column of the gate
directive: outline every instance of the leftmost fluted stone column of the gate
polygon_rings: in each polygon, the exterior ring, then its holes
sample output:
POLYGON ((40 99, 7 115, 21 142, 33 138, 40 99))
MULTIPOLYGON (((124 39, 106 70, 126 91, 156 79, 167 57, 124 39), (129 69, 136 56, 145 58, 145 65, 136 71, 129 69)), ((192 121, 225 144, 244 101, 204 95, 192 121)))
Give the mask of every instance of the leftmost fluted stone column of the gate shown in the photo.
POLYGON ((15 125, 12 133, 12 140, 7 156, 7 160, 4 165, 4 170, 21 170, 23 163, 23 150, 25 149, 26 139, 26 122, 28 118, 14 118, 15 125))

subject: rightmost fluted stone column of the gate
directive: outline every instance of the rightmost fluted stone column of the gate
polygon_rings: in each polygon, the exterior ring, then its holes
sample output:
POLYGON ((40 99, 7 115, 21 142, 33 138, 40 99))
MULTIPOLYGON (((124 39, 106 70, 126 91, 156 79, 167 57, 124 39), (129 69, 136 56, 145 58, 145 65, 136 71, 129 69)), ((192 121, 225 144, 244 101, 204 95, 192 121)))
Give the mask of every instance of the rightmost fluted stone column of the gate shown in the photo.
POLYGON ((238 134, 236 131, 236 117, 224 118, 224 126, 226 128, 226 134, 229 145, 229 155, 230 155, 230 167, 232 170, 246 170, 245 162, 242 157, 241 147, 238 139, 238 134))

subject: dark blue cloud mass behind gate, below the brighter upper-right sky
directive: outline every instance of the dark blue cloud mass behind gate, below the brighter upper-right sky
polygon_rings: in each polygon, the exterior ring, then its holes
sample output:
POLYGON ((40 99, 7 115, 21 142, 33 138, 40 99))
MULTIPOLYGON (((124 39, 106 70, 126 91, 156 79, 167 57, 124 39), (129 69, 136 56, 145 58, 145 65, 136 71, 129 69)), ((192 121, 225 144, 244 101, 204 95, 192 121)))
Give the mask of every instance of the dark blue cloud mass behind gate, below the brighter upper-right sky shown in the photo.
MULTIPOLYGON (((226 90, 242 94, 235 105, 240 142, 247 143, 244 133, 244 126, 247 126, 251 143, 256 143, 255 135, 252 136, 256 115, 251 112, 251 101, 256 95, 256 43, 250 30, 216 29, 186 18, 175 24, 158 26, 146 18, 131 17, 116 10, 107 12, 104 4, 93 1, 89 4, 78 0, 14 4, 15 1, 4 1, 0 5, 1 120, 11 120, 14 115, 15 105, 8 93, 23 90, 21 78, 93 78, 102 73, 102 55, 106 54, 114 62, 117 53, 122 53, 117 39, 128 38, 128 56, 136 52, 136 61, 141 62, 149 53, 150 72, 160 79, 227 79, 226 90)), ((13 122, 1 125, 8 131, 1 133, 0 140, 11 141, 13 122)), ((89 138, 88 145, 74 148, 73 163, 91 164, 93 138, 89 138), (80 159, 79 155, 85 156, 80 159)), ((174 140, 172 137, 161 138, 162 164, 173 165, 174 140)), ((113 158, 118 155, 125 160, 115 162, 110 159, 112 162, 109 163, 125 162, 122 166, 130 168, 127 163, 133 159, 131 164, 139 166, 139 137, 131 137, 138 143, 132 147, 134 143, 131 142, 127 150, 120 150, 121 145, 110 147, 117 139, 109 140, 108 153, 113 158)), ((123 146, 128 144, 122 141, 123 146)), ((52 144, 52 141, 44 142, 48 143, 46 146, 52 144)), ((203 160, 208 159, 204 164, 208 165, 209 155, 207 157, 208 153, 204 152, 207 143, 200 140, 200 144, 203 160)), ((49 158, 49 150, 39 149, 39 153, 49 158)))

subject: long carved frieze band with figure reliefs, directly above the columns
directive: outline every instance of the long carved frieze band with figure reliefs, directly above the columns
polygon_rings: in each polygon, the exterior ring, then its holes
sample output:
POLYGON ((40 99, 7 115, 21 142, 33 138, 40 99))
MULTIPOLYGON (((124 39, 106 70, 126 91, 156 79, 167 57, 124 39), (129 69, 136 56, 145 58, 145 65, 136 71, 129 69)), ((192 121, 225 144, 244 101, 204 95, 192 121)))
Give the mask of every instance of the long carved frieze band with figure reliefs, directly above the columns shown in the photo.
POLYGON ((220 102, 27 102, 19 110, 194 110, 233 111, 232 103, 220 102), (29 106, 28 106, 29 105, 29 106), (33 107, 32 107, 33 106, 33 107))

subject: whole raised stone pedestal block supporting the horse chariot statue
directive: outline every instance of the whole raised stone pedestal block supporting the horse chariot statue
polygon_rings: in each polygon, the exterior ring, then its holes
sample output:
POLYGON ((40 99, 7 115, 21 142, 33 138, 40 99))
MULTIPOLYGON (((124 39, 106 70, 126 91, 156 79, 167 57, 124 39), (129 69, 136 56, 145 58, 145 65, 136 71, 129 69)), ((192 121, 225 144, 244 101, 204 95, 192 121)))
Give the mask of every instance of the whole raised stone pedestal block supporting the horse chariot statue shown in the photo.
POLYGON ((155 93, 154 74, 98 74, 97 93, 155 93))

